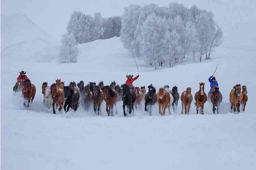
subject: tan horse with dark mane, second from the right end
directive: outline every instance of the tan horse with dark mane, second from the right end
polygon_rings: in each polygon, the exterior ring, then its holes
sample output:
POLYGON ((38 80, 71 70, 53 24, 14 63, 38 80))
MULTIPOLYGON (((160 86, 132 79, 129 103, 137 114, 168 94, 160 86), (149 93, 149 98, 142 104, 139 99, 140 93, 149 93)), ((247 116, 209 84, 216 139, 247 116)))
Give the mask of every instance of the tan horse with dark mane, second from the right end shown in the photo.
POLYGON ((233 87, 233 89, 230 91, 229 94, 229 102, 231 103, 230 112, 232 112, 232 109, 234 108, 234 112, 237 111, 240 112, 240 103, 243 99, 243 93, 241 91, 241 84, 237 84, 233 87))

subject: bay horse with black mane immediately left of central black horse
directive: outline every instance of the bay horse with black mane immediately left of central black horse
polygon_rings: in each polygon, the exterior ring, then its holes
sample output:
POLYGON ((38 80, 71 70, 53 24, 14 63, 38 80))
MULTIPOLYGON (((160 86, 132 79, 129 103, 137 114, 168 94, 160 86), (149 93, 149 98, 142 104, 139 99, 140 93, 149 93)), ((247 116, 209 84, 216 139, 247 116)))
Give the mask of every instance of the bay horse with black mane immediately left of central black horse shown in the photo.
MULTIPOLYGON (((110 86, 104 86, 103 87, 103 99, 106 102, 106 112, 108 113, 108 116, 113 116, 113 108, 114 104, 117 100, 117 92, 115 90, 112 90, 110 86)), ((117 114, 117 108, 116 109, 116 114, 117 114)))

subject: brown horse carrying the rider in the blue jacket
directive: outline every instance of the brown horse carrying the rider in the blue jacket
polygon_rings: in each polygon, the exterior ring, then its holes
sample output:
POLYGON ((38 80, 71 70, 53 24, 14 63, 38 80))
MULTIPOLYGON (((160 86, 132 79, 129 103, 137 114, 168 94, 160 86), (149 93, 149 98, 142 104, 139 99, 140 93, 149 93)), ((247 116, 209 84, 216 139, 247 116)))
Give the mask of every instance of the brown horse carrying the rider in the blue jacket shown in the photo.
POLYGON ((213 85, 213 92, 211 93, 211 102, 212 102, 212 113, 215 114, 216 108, 217 107, 217 114, 219 114, 219 105, 222 102, 222 94, 219 91, 219 88, 213 85))

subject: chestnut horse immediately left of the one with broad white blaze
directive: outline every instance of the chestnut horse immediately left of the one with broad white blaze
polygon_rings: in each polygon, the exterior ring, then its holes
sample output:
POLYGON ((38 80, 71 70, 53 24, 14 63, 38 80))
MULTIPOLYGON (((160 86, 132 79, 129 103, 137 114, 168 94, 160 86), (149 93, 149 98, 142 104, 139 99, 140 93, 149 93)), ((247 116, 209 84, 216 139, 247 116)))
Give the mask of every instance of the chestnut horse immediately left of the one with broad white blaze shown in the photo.
POLYGON ((183 114, 184 107, 185 107, 185 114, 189 114, 192 101, 193 101, 193 95, 191 94, 191 87, 188 87, 186 91, 183 91, 181 94, 181 104, 182 104, 181 114, 183 114))

